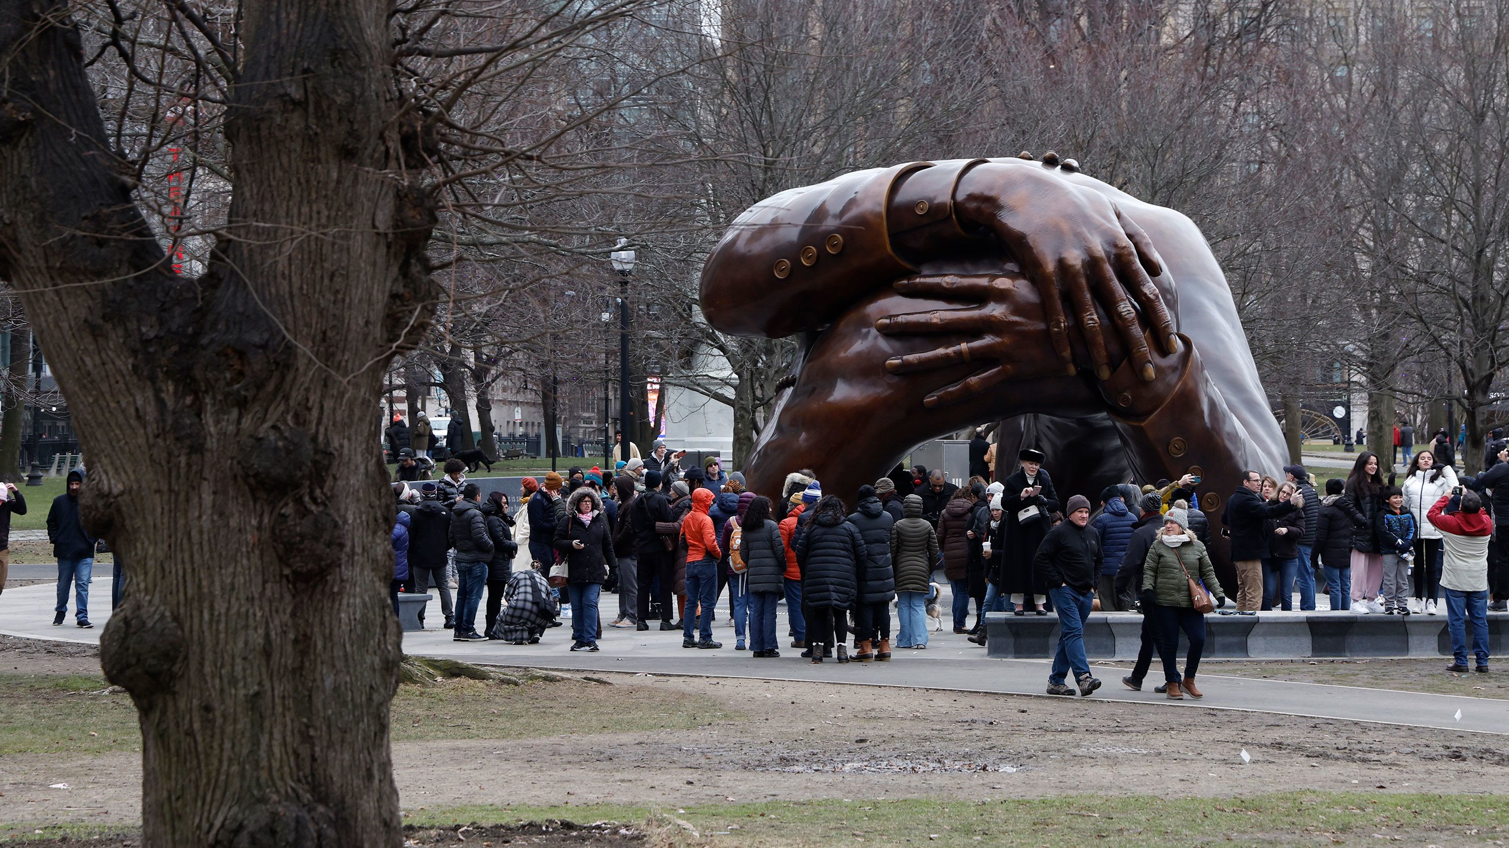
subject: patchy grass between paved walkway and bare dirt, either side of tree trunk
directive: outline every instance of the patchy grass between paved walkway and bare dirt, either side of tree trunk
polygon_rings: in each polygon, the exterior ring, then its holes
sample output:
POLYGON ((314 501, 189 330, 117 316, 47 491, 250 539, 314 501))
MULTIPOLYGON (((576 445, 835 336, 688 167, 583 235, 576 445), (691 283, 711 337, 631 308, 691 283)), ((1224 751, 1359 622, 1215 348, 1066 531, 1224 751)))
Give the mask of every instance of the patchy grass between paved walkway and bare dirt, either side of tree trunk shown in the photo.
MULTIPOLYGON (((142 747, 130 696, 98 676, 0 674, 0 754, 104 753, 142 747)), ((706 697, 658 702, 582 681, 524 687, 445 679, 403 685, 392 702, 392 739, 522 739, 563 733, 687 729, 735 714, 706 697)))

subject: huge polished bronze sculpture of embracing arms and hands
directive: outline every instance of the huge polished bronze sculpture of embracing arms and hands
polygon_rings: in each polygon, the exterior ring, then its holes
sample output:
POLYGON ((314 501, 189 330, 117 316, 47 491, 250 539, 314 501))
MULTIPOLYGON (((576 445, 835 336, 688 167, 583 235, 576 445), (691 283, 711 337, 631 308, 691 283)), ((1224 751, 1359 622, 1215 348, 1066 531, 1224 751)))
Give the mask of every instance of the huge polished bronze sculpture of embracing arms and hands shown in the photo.
POLYGON ((1065 495, 1201 475, 1231 575, 1221 507, 1286 453, 1225 278, 1189 219, 1071 163, 862 171, 735 220, 703 269, 708 320, 807 336, 745 463, 751 490, 813 468, 848 495, 914 445, 999 419, 997 456, 1043 450, 1065 495))

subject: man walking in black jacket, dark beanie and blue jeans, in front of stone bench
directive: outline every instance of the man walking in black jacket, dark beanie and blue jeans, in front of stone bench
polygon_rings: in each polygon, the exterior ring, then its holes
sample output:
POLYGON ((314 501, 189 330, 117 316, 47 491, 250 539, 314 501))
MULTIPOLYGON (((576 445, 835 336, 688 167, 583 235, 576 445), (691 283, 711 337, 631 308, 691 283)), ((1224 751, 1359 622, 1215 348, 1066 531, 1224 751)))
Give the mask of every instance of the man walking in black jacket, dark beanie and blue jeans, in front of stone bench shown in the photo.
POLYGON ((1047 531, 1032 560, 1032 567, 1043 575, 1053 610, 1058 611, 1058 652, 1047 676, 1047 694, 1074 694, 1073 688, 1064 685, 1064 676, 1073 668, 1079 694, 1088 696, 1100 688, 1100 681, 1089 674, 1089 659, 1085 658, 1085 619, 1089 617, 1096 581, 1100 579, 1100 534, 1089 527, 1089 501, 1083 495, 1070 498, 1065 512, 1068 516, 1064 524, 1047 531))

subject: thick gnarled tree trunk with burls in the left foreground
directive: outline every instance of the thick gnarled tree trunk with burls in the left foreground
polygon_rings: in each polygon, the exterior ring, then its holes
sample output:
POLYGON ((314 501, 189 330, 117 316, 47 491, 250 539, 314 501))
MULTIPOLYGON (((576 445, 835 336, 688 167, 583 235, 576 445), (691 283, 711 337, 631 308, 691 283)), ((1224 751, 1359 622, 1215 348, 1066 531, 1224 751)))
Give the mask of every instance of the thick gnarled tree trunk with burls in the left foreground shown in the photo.
POLYGON ((86 445, 85 521, 133 563, 101 661, 140 711, 143 840, 397 846, 371 422, 433 300, 433 213, 401 171, 388 5, 244 5, 237 183, 198 281, 133 204, 63 12, 0 0, 0 276, 86 445))

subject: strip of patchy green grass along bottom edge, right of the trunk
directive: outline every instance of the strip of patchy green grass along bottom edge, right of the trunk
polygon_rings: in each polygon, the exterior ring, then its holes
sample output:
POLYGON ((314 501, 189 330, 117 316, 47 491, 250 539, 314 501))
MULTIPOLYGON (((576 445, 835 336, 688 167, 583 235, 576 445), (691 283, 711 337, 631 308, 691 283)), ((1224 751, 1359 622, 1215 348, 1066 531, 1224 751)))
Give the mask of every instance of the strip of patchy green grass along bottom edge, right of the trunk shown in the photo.
MULTIPOLYGON (((985 795, 987 792, 981 792, 985 795)), ((409 809, 421 825, 513 821, 685 821, 712 845, 1031 843, 1195 845, 1204 842, 1483 843, 1509 834, 1509 797, 1293 792, 1249 798, 1070 795, 1043 800, 865 800, 632 806, 409 809)), ((690 834, 688 834, 690 836, 690 834)))

